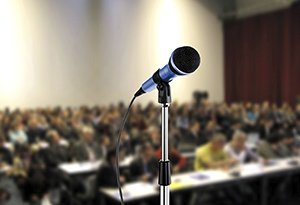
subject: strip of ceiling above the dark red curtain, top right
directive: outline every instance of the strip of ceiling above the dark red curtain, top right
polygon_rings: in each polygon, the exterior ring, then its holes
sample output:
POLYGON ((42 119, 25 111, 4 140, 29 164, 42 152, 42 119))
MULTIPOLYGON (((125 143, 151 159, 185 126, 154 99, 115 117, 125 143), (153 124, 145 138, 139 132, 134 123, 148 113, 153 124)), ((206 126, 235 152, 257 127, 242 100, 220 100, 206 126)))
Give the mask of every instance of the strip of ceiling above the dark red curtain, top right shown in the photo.
POLYGON ((291 6, 300 0, 199 0, 221 19, 244 18, 291 6))

